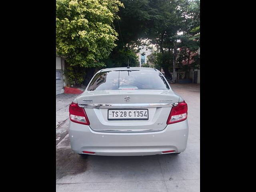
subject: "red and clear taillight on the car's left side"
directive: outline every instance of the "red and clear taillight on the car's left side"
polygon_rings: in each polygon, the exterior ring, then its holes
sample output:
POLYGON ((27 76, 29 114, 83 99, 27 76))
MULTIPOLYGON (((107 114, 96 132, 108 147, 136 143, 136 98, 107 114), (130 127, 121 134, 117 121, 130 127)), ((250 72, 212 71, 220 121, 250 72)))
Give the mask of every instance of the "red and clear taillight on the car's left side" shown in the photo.
POLYGON ((79 107, 78 104, 74 102, 72 102, 69 106, 69 118, 72 122, 90 125, 84 108, 79 107))

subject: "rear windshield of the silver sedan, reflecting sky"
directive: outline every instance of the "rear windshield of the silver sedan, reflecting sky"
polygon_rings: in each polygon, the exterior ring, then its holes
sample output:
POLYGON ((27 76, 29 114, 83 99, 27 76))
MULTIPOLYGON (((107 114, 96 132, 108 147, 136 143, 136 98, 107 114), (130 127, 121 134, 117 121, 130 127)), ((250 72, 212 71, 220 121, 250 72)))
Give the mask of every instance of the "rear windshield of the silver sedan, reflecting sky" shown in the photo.
POLYGON ((120 70, 97 73, 88 86, 93 90, 170 89, 160 72, 146 70, 120 70))

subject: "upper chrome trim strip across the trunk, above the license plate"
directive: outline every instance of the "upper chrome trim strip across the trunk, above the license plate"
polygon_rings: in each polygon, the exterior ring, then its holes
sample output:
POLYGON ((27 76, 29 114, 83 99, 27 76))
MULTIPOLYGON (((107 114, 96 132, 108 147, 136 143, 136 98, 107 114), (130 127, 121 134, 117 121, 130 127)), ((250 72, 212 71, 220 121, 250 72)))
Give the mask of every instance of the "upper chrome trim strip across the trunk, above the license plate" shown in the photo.
POLYGON ((82 104, 79 103, 78 106, 83 108, 152 108, 152 107, 175 107, 178 105, 178 102, 173 103, 113 103, 113 104, 82 104))

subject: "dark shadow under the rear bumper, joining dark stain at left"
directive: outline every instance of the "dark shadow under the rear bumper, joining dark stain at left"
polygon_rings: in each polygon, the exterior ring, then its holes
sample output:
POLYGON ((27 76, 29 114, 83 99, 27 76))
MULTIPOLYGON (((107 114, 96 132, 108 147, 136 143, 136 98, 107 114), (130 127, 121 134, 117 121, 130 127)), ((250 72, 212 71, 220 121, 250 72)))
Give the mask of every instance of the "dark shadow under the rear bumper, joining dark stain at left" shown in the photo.
POLYGON ((84 172, 144 172, 160 169, 160 164, 176 164, 179 155, 163 154, 151 156, 95 156, 86 158, 76 154, 70 147, 56 149, 56 180, 64 176, 75 176, 84 172), (158 167, 158 168, 157 168, 158 167))

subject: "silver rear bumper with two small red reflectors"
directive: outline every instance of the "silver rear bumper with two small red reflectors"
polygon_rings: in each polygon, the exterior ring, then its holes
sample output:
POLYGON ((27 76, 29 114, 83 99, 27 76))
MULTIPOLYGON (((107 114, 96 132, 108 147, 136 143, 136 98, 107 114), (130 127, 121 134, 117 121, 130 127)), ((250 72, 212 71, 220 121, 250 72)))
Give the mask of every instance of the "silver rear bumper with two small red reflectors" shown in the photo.
MULTIPOLYGON (((188 140, 188 120, 170 124, 159 132, 106 133, 70 121, 69 138, 74 152, 95 152, 92 155, 142 156, 163 154, 162 151, 183 152, 188 140)), ((166 154, 166 153, 164 153, 166 154)))

